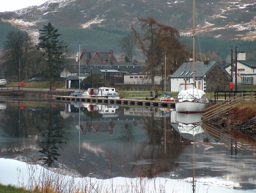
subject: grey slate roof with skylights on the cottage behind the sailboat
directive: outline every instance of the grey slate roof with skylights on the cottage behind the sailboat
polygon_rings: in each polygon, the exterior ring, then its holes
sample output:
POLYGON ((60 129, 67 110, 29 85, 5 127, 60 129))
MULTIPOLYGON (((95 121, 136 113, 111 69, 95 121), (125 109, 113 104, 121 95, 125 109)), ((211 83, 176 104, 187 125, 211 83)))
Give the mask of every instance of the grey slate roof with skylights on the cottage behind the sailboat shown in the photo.
MULTIPOLYGON (((207 62, 195 62, 195 77, 204 77, 207 75, 216 65, 218 65, 225 73, 229 73, 220 65, 218 61, 207 61, 207 62)), ((171 78, 193 78, 193 62, 183 63, 174 73, 171 78)))

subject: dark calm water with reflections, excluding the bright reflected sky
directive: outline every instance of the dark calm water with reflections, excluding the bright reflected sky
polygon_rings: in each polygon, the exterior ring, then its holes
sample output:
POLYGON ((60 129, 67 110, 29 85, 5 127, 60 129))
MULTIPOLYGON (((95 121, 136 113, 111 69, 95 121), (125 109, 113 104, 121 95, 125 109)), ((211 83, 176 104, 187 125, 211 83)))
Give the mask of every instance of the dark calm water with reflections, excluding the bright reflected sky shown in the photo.
POLYGON ((194 136, 197 177, 256 188, 255 154, 233 150, 231 155, 231 147, 201 123, 189 124, 200 120, 193 116, 136 106, 2 101, 0 157, 64 168, 76 176, 183 179, 192 176, 194 136))

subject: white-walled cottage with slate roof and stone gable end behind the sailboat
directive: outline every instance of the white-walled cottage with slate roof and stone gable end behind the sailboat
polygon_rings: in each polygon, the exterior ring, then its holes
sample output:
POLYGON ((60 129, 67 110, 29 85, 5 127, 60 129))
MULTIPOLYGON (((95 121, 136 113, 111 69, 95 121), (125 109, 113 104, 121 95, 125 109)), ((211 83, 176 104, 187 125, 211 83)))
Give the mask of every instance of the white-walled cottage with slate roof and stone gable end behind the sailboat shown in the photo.
MULTIPOLYGON (((230 80, 230 74, 220 65, 219 62, 195 62, 194 84, 196 88, 206 92, 227 90, 229 89, 230 80)), ((180 84, 191 82, 193 82, 193 62, 186 62, 170 76, 170 91, 178 92, 180 84)))

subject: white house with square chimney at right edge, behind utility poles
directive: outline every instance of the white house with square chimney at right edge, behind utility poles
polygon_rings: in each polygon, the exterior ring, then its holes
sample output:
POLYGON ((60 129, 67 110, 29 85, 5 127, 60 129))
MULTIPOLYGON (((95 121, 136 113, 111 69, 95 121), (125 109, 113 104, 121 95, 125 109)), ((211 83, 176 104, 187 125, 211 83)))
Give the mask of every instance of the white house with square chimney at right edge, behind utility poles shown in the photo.
MULTIPOLYGON (((233 83, 236 82, 235 74, 236 62, 233 61, 232 65, 223 66, 227 72, 232 73, 233 83)), ((256 84, 256 60, 246 60, 245 52, 238 52, 237 56, 237 83, 241 84, 256 84)))

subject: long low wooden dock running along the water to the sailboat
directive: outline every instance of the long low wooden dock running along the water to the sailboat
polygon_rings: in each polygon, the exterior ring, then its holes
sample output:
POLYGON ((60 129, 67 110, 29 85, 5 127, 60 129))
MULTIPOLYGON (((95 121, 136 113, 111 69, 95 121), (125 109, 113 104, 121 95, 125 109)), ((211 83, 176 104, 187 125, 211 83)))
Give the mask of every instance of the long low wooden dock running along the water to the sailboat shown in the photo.
POLYGON ((66 102, 88 102, 88 103, 98 103, 98 104, 119 104, 119 105, 131 105, 131 106, 175 108, 175 102, 167 102, 167 101, 83 98, 83 97, 75 97, 75 96, 55 96, 55 100, 66 101, 66 102))

